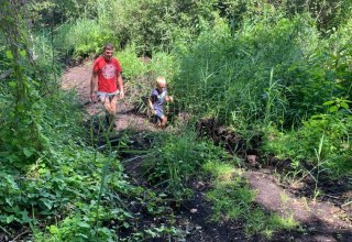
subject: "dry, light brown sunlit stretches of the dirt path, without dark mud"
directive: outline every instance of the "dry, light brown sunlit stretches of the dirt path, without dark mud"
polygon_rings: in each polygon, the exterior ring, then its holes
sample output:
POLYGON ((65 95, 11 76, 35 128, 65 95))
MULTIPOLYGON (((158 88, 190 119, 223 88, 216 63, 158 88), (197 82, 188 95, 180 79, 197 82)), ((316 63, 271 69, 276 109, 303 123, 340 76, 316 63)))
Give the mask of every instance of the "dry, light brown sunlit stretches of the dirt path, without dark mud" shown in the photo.
MULTIPOLYGON (((89 100, 91 65, 91 62, 86 62, 79 66, 68 68, 62 77, 62 88, 66 90, 75 89, 79 101, 85 106, 86 112, 89 116, 95 116, 101 113, 102 109, 99 103, 91 103, 89 100)), ((130 92, 128 88, 125 90, 128 97, 130 92)), ((133 109, 134 107, 131 102, 125 100, 118 101, 117 130, 156 130, 144 117, 135 114, 133 109)), ((326 228, 324 234, 328 235, 311 237, 307 241, 337 241, 329 234, 339 233, 340 231, 348 231, 349 234, 352 234, 351 213, 345 212, 340 207, 329 202, 312 201, 306 197, 297 197, 277 185, 271 172, 248 170, 243 173, 243 177, 249 180, 250 186, 257 193, 255 202, 265 209, 283 216, 293 215, 300 223, 308 224, 307 227, 319 223, 326 228)))

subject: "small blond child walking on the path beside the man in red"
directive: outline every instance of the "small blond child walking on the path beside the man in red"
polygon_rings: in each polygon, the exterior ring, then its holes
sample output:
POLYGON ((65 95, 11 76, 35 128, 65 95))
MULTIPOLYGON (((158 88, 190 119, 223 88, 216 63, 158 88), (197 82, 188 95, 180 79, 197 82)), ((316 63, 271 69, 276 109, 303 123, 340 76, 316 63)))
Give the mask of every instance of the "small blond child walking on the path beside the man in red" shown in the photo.
POLYGON ((152 91, 148 99, 150 108, 157 118, 157 125, 164 128, 167 123, 167 117, 164 114, 164 101, 173 101, 173 97, 167 95, 165 77, 156 78, 156 88, 152 91))

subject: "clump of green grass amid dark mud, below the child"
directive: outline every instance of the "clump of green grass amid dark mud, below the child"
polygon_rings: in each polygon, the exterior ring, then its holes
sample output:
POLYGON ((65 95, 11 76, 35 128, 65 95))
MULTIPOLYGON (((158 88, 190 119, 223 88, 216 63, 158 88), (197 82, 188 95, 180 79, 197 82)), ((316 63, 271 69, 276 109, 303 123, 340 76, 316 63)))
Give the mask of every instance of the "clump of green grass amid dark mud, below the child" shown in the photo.
POLYGON ((144 165, 148 180, 176 199, 189 195, 187 182, 207 161, 218 161, 224 155, 219 147, 205 141, 197 141, 190 130, 179 135, 162 136, 158 145, 151 151, 144 165))

